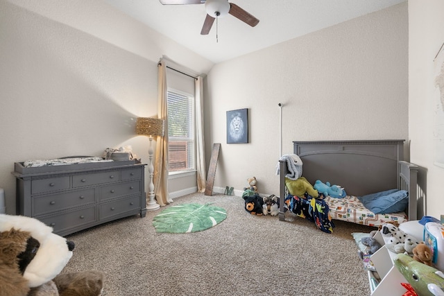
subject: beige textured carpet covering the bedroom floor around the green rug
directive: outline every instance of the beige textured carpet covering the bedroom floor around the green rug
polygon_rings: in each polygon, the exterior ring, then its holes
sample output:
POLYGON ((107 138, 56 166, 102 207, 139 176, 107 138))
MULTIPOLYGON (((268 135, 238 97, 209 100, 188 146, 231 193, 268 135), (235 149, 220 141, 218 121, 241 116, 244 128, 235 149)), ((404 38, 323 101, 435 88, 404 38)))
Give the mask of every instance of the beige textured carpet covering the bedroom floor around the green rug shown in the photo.
POLYGON ((71 234, 76 248, 62 272, 105 272, 105 296, 370 295, 351 233, 374 228, 334 220, 326 234, 288 212, 286 221, 252 216, 234 195, 194 193, 173 205, 191 202, 213 202, 227 218, 202 232, 156 233, 162 207, 71 234))

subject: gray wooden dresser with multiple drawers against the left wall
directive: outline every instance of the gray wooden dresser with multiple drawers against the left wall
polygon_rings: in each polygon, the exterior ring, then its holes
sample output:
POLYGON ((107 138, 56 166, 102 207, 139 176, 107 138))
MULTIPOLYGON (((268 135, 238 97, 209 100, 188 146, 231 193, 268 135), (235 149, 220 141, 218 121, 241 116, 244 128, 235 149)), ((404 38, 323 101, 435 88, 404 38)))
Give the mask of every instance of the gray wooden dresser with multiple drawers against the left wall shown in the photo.
POLYGON ((112 162, 27 169, 15 163, 17 215, 37 218, 60 236, 135 214, 144 217, 145 166, 112 162))

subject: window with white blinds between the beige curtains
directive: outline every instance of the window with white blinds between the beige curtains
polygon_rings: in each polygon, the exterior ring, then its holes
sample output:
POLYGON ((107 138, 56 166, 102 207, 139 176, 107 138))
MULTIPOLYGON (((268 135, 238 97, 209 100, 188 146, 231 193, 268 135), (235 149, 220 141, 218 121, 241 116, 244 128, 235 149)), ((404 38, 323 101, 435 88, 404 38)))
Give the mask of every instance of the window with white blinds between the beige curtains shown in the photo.
POLYGON ((169 172, 195 170, 194 96, 168 90, 167 105, 169 172))

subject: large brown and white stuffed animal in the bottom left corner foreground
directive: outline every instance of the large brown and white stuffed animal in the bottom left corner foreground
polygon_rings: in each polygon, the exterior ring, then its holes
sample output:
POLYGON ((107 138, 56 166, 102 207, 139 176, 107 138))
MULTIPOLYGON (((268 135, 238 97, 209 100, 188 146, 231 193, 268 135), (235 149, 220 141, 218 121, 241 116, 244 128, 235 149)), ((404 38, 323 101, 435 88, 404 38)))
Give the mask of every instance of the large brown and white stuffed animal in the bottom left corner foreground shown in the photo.
POLYGON ((103 273, 59 275, 74 243, 35 218, 0 214, 0 295, 101 295, 103 273))

